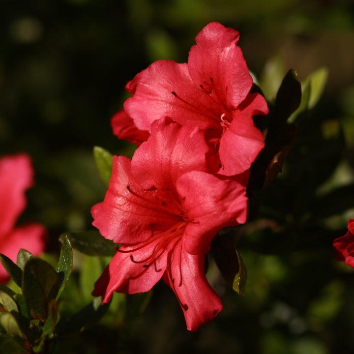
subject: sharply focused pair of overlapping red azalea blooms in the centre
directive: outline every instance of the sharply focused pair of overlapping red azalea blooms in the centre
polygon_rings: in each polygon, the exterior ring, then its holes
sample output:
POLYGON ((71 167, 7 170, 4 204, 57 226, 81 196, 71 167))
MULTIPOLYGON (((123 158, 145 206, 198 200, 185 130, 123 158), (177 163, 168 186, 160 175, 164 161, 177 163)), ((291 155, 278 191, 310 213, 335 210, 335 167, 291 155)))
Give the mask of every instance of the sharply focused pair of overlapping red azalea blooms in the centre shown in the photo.
POLYGON ((220 229, 246 221, 249 171, 264 147, 253 116, 268 108, 238 37, 210 23, 188 63, 156 61, 126 85, 133 96, 112 127, 139 147, 131 160, 114 156, 105 199, 91 210, 101 235, 121 244, 93 295, 108 302, 162 278, 192 331, 222 309, 205 255, 220 229))

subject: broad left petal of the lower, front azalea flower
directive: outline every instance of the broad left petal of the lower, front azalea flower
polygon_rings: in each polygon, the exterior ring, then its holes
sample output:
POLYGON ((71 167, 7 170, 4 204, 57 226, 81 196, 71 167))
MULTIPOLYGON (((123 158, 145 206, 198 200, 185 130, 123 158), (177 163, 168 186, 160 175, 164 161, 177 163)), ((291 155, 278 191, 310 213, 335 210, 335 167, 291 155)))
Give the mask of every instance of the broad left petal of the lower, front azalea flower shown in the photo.
POLYGON ((92 225, 116 243, 143 242, 154 232, 165 231, 180 220, 171 212, 176 206, 170 196, 142 189, 131 174, 130 164, 127 157, 113 157, 105 199, 91 208, 92 225))

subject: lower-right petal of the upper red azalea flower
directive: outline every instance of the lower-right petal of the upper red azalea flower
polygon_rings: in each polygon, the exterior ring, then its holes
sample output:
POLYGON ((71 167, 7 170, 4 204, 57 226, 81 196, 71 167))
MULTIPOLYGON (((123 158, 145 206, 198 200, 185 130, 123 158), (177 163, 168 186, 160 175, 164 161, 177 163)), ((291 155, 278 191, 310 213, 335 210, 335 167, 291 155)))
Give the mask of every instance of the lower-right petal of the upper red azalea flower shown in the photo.
POLYGON ((230 127, 220 139, 220 175, 233 176, 250 169, 264 148, 264 136, 254 125, 252 116, 268 112, 266 101, 258 93, 252 93, 250 97, 252 102, 242 111, 234 112, 230 127))

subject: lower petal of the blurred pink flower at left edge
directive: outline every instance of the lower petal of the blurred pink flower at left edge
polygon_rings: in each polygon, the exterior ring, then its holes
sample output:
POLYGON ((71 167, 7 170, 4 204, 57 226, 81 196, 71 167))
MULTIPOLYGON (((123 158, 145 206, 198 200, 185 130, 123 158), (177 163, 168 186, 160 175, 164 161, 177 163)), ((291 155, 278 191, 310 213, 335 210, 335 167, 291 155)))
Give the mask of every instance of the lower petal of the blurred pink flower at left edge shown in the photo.
MULTIPOLYGON (((35 256, 39 256, 45 250, 47 230, 40 224, 28 224, 10 231, 2 239, 0 253, 4 254, 16 263, 17 254, 21 248, 28 250, 35 256)), ((0 284, 9 279, 9 275, 0 265, 0 284)))

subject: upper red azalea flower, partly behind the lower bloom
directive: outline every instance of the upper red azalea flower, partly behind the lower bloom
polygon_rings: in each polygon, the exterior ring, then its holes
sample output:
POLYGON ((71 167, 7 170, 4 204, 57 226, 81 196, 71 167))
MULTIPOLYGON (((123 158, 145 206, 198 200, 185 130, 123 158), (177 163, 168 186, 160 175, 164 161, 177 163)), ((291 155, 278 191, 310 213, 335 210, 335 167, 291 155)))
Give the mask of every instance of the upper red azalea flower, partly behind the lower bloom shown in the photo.
POLYGON ((133 97, 124 102, 139 129, 150 131, 156 117, 203 129, 214 151, 208 163, 224 176, 250 168, 264 147, 252 116, 268 113, 265 98, 250 92, 253 80, 238 37, 235 29, 208 24, 197 35, 188 64, 154 62, 126 85, 133 97))

